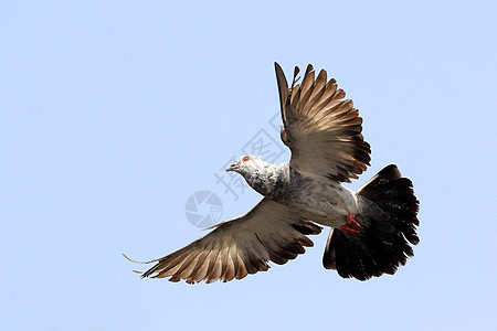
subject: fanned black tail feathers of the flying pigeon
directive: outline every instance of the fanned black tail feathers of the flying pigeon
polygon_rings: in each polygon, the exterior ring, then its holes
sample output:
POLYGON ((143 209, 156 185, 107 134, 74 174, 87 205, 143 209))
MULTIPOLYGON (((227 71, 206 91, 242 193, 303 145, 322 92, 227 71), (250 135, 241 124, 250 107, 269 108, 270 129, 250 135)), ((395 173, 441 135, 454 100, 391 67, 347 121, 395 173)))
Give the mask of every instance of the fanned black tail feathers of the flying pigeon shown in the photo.
POLYGON ((420 242, 416 235, 419 201, 412 182, 401 177, 396 166, 390 164, 357 194, 376 203, 388 217, 357 215, 358 222, 366 225, 359 234, 332 229, 322 264, 327 269, 337 269, 345 278, 367 280, 383 274, 393 275, 414 255, 411 245, 420 242))

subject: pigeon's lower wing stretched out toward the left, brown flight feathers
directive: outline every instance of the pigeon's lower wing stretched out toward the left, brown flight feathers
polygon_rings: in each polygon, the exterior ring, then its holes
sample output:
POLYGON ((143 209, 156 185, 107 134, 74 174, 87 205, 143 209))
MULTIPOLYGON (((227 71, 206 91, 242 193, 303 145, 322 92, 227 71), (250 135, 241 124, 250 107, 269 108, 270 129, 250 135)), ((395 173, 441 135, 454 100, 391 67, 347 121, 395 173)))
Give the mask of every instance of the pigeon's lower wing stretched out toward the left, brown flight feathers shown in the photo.
POLYGON ((268 260, 283 265, 313 246, 306 236, 321 227, 302 220, 295 211, 263 199, 248 213, 215 225, 215 229, 165 257, 142 277, 165 278, 189 284, 212 282, 266 271, 268 260))

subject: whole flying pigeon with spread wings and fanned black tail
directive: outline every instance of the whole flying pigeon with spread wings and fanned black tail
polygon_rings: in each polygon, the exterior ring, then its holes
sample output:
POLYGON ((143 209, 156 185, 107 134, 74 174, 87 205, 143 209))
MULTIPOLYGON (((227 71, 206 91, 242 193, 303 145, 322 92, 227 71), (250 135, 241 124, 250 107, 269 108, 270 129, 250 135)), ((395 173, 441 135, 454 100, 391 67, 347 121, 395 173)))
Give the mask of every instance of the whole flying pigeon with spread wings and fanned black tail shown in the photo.
MULTIPOLYGON (((355 192, 343 183, 370 166, 371 148, 352 100, 321 70, 298 66, 292 85, 275 62, 288 162, 242 156, 226 171, 237 172, 263 195, 246 214, 210 227, 210 233, 155 263, 141 278, 188 284, 242 279, 283 265, 314 246, 309 235, 329 227, 322 266, 342 278, 367 280, 393 275, 414 255, 420 239, 420 202, 395 164, 383 168, 355 192)), ((125 255, 126 258, 128 258, 125 255)), ((128 258, 130 259, 130 258, 128 258)), ((130 259, 131 261, 135 261, 130 259)))

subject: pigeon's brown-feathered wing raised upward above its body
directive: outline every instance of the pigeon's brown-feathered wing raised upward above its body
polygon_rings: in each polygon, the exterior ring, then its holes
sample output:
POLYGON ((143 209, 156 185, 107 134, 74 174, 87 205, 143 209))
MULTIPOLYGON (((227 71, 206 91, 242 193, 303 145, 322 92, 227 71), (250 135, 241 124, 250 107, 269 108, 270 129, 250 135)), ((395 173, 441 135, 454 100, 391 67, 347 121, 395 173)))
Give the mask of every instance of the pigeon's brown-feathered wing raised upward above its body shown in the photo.
POLYGON ((282 140, 292 150, 290 166, 308 177, 350 182, 369 166, 370 146, 363 140, 362 118, 352 100, 343 99, 335 79, 321 70, 315 79, 309 64, 302 84, 295 67, 292 87, 275 63, 282 105, 282 140))

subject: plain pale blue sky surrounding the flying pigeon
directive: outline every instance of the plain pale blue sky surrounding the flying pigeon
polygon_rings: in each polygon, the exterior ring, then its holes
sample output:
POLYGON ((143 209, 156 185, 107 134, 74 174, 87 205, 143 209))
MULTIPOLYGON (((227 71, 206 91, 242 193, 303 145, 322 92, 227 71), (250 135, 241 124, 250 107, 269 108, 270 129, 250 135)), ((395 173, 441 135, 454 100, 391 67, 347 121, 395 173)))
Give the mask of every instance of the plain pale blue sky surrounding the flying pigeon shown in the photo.
MULTIPOLYGON (((496 308, 495 1, 4 1, 0 329, 490 330, 496 308), (271 2, 271 3, 269 3, 271 2), (144 279, 120 255, 204 234, 184 214, 278 111, 273 62, 313 63, 364 119, 371 168, 421 201, 415 257, 325 270, 327 232, 229 284, 144 279)), ((278 160, 286 161, 287 150, 278 160)))

